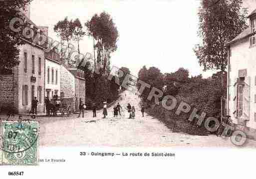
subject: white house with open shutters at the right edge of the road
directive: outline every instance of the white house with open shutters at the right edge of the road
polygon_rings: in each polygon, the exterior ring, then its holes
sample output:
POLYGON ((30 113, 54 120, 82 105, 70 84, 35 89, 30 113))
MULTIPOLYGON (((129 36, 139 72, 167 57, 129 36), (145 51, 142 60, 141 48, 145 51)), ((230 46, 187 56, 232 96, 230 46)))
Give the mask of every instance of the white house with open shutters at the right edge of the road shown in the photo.
POLYGON ((256 129, 256 9, 248 19, 250 27, 227 44, 227 112, 235 124, 256 129))

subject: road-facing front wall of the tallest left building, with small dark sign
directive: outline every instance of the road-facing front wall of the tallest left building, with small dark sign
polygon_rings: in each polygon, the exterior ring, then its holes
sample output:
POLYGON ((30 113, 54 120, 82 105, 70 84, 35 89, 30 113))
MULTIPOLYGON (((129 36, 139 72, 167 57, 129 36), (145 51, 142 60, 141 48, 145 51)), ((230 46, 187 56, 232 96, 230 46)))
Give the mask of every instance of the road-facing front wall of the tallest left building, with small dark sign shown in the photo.
POLYGON ((34 97, 38 100, 37 112, 44 109, 44 51, 31 44, 20 47, 20 63, 18 65, 18 112, 31 110, 34 97))

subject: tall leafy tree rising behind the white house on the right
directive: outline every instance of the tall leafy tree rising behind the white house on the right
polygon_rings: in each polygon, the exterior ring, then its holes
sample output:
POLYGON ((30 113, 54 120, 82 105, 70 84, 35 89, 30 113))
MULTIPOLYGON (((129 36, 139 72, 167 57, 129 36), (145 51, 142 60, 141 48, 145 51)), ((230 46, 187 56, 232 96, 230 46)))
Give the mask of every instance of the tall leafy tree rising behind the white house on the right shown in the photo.
POLYGON ((227 66, 225 44, 247 28, 245 13, 241 13, 242 0, 203 0, 199 9, 199 36, 202 44, 194 51, 204 70, 227 66))

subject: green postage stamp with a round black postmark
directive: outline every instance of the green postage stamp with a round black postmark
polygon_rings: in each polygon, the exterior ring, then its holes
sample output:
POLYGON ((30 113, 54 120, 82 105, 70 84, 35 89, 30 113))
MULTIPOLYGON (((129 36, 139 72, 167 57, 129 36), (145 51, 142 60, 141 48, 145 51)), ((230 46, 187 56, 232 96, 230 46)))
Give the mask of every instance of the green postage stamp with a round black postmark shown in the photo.
POLYGON ((38 164, 38 122, 2 121, 0 128, 1 165, 38 164))

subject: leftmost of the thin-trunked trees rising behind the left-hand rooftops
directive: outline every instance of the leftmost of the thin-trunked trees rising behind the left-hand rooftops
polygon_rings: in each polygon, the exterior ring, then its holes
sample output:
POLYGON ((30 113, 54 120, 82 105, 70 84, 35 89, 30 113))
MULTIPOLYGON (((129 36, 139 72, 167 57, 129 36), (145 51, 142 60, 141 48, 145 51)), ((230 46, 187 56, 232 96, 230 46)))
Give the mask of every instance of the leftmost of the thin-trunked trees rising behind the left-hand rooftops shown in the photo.
MULTIPOLYGON (((68 49, 68 61, 70 58, 70 44, 71 39, 73 37, 75 26, 73 25, 72 19, 69 21, 67 17, 64 18, 64 20, 58 21, 54 25, 54 31, 57 33, 58 36, 60 36, 61 40, 61 46, 62 46, 62 40, 65 40, 67 42, 67 49, 68 49)), ((63 51, 61 47, 61 58, 63 58, 63 51)), ((65 52, 64 52, 65 53, 65 52)))

